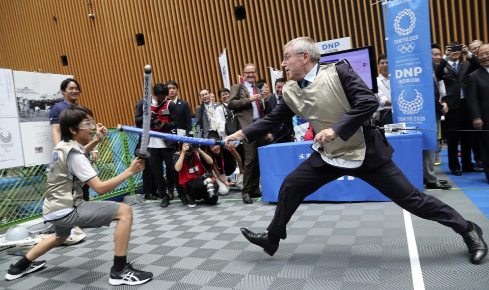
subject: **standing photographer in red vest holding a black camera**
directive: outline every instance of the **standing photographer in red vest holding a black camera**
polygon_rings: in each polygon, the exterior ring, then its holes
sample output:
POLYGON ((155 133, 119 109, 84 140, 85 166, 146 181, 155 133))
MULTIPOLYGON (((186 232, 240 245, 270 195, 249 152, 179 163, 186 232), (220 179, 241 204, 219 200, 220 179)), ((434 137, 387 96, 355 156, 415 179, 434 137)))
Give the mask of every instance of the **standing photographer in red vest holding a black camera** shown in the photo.
MULTIPOLYGON (((172 133, 175 129, 175 104, 167 99, 167 85, 158 82, 153 86, 151 99, 151 130, 172 133)), ((135 123, 137 127, 143 127, 143 99, 136 104, 135 123)), ((141 142, 141 140, 140 140, 141 142)), ((139 144, 137 148, 139 147, 139 144)), ((175 142, 161 138, 150 137, 148 152, 151 157, 146 161, 146 169, 143 170, 143 191, 146 199, 154 200, 158 193, 161 197, 161 207, 166 208, 173 199, 175 188, 175 171, 173 171, 173 153, 175 142), (163 161, 167 167, 167 180, 164 177, 163 161), (157 193, 158 192, 158 193, 157 193)))

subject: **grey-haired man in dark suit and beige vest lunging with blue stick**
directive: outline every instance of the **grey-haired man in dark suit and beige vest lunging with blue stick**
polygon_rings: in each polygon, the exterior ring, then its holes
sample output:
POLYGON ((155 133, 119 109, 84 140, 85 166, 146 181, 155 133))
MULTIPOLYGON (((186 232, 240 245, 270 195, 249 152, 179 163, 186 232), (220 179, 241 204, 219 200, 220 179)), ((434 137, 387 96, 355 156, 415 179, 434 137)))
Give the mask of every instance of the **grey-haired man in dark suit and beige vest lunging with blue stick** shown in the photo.
POLYGON ((309 37, 288 42, 282 62, 291 80, 283 88, 285 103, 226 138, 253 141, 294 113, 309 120, 318 132, 313 154, 280 187, 268 233, 255 234, 241 228, 242 234, 273 255, 279 240, 287 237, 286 225, 304 198, 322 185, 349 175, 377 188, 406 211, 453 228, 463 236, 471 262, 480 264, 487 254, 480 227, 466 221, 441 200, 415 188, 391 160, 393 149, 389 142, 370 126, 378 106, 375 95, 346 62, 319 66, 318 61, 319 50, 309 37))

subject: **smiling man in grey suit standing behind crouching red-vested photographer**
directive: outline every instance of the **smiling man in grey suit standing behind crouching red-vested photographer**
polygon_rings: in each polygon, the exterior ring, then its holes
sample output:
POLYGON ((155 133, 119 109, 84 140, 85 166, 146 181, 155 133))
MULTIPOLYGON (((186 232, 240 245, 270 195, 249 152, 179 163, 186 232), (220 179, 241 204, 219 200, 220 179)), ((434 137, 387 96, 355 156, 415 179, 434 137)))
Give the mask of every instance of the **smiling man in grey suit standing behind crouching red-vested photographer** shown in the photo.
POLYGON ((215 137, 219 139, 218 127, 215 123, 215 109, 221 103, 210 100, 210 91, 202 89, 199 92, 202 104, 195 108, 195 131, 198 138, 215 137))

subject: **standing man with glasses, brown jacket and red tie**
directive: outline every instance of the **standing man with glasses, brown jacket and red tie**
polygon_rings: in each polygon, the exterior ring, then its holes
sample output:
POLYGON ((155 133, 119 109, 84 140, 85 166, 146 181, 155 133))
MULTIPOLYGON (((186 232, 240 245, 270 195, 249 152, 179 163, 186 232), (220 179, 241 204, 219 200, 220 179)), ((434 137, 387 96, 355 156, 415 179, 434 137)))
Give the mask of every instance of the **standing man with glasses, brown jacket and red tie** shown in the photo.
MULTIPOLYGON (((239 123, 239 128, 244 128, 265 115, 266 102, 262 102, 262 91, 256 86, 256 65, 247 64, 243 68, 244 84, 236 83, 231 86, 228 108, 233 110, 239 123)), ((263 138, 254 142, 244 142, 243 163, 243 191, 242 198, 245 204, 253 204, 251 197, 260 197, 260 167, 258 163, 258 147, 264 142, 263 138), (258 143, 257 143, 258 142, 258 143)))

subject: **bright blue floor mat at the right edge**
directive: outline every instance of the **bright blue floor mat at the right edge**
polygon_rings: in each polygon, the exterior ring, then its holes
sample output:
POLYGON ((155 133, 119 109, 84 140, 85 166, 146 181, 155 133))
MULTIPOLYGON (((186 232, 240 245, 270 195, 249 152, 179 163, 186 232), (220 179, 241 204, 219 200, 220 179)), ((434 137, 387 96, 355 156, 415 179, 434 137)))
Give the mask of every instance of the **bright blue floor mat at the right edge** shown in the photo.
POLYGON ((477 208, 489 218, 489 184, 487 183, 484 172, 462 172, 461 176, 455 176, 448 168, 446 149, 440 152, 440 158, 442 161, 440 168, 474 202, 477 208))

